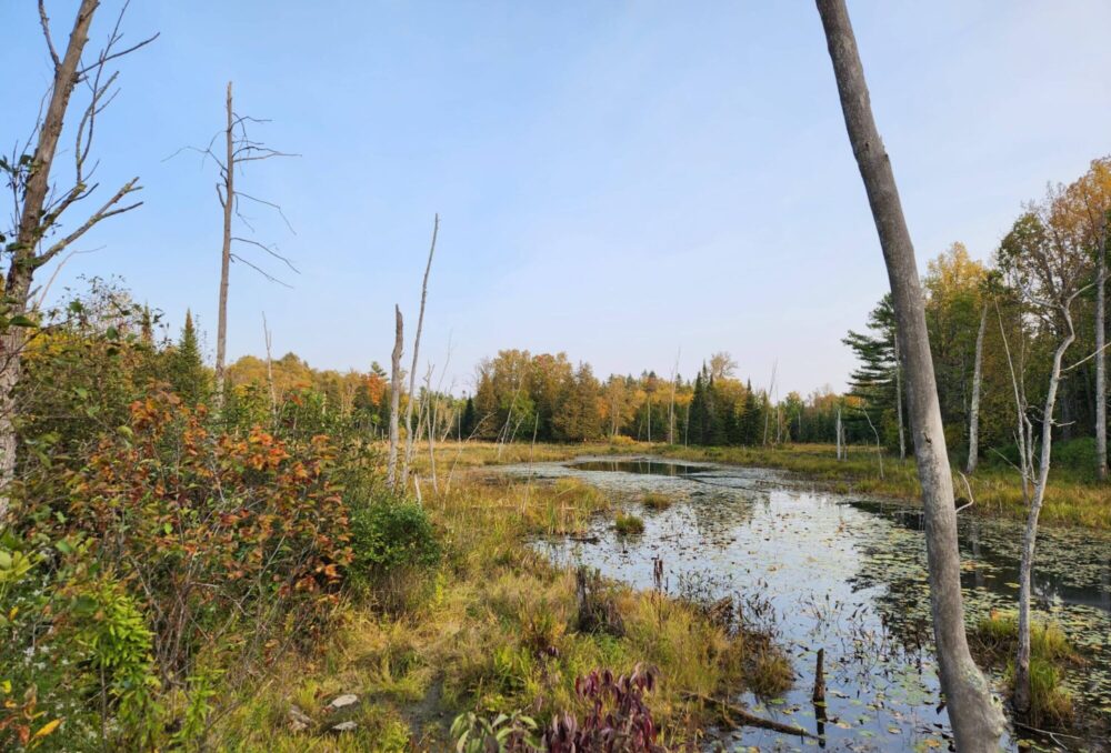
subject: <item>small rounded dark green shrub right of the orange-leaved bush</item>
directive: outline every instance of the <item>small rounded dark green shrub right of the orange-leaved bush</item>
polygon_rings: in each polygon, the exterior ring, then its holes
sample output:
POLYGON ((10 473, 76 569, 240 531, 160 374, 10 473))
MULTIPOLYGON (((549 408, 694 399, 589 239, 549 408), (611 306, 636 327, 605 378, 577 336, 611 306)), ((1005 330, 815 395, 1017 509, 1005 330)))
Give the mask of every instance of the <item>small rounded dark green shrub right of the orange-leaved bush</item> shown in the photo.
POLYGON ((374 501, 351 512, 352 566, 362 576, 399 569, 430 568, 440 543, 424 508, 414 502, 374 501))

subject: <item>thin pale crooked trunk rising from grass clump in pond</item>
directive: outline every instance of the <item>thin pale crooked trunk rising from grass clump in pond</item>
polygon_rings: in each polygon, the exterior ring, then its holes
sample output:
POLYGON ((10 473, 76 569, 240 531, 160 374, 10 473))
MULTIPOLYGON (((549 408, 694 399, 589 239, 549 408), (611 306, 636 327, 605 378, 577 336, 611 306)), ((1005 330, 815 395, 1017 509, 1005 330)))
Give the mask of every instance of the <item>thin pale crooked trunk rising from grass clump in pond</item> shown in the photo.
MULTIPOLYGON (((1014 707, 1020 713, 1030 711, 1030 581, 1034 566, 1034 545, 1038 541, 1038 516, 1045 500, 1049 482, 1051 450, 1053 446, 1053 410, 1057 408, 1057 390, 1061 383, 1061 362, 1064 351, 1075 340, 1072 315, 1068 307, 1062 307, 1068 334, 1053 351, 1053 368, 1050 371, 1049 390, 1042 412, 1041 458, 1038 461, 1038 479, 1027 513, 1027 530, 1022 535, 1022 558, 1019 561, 1019 647, 1014 656, 1014 707)), ((1031 454, 1033 454, 1031 452, 1031 454)))

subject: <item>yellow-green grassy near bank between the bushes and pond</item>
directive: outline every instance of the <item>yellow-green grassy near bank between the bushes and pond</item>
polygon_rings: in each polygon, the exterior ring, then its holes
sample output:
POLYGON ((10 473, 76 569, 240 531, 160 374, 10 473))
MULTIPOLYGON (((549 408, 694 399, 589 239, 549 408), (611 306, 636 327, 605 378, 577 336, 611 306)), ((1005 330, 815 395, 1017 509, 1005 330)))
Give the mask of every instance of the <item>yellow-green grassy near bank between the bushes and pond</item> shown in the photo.
MULTIPOLYGON (((538 448, 534 458, 568 451, 538 448)), ((221 746, 447 750, 457 713, 520 712, 538 722, 582 713, 577 677, 638 664, 659 670, 648 703, 663 742, 675 744, 697 739, 712 719, 692 696, 745 687, 774 695, 791 682, 788 661, 767 636, 729 631, 700 605, 657 593, 607 584, 599 598, 619 628, 582 629, 574 573, 551 566, 526 542, 584 531, 592 516, 610 513, 608 500, 573 480, 519 483, 474 469, 490 452, 463 453, 450 486, 444 473, 440 493, 424 493, 444 544, 442 564, 377 584, 377 604, 348 605, 342 628, 317 651, 229 704, 213 734, 221 746), (344 693, 359 702, 330 712, 327 704, 344 693), (308 729, 291 730, 293 706, 308 729), (357 727, 336 735, 329 727, 339 721, 357 727)))

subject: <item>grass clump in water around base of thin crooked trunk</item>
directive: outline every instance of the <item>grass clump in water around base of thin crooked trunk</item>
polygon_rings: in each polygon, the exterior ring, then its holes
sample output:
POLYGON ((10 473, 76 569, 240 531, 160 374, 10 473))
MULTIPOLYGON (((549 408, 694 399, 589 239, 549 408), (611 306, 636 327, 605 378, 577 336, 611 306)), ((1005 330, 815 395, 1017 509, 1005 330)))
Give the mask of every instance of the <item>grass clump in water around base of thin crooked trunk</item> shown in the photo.
MULTIPOLYGON (((1013 692, 1018 616, 1013 612, 992 612, 977 623, 972 637, 981 661, 994 666, 1005 663, 1004 679, 1013 692)), ((1030 719, 1034 724, 1060 724, 1072 719, 1072 694, 1064 687, 1064 673, 1082 661, 1058 625, 1035 622, 1030 626, 1030 719)))

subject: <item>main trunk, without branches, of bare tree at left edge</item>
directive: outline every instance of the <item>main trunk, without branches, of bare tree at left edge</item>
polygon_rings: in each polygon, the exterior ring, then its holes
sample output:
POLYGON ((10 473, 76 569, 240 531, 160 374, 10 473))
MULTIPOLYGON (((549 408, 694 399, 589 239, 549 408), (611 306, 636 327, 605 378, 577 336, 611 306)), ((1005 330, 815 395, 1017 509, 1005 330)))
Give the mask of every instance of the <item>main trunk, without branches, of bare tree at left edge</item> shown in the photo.
MULTIPOLYGON (((73 21, 69 43, 66 46, 66 54, 61 60, 53 57, 54 76, 50 88, 50 101, 39 127, 39 140, 31 158, 34 170, 31 171, 24 185, 16 243, 12 247, 12 259, 3 284, 9 317, 26 315, 30 311, 31 282, 34 270, 42 261, 37 254, 44 232, 42 215, 43 205, 50 193, 50 169, 58 151, 58 139, 62 133, 70 97, 78 82, 77 71, 81 64, 81 53, 89 42, 89 27, 99 6, 98 0, 82 0, 73 21)), ((16 478, 18 438, 14 393, 23 375, 26 344, 27 335, 21 327, 10 325, 0 335, 0 526, 8 518, 11 504, 9 485, 16 478)))

